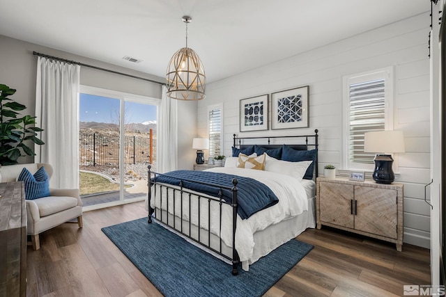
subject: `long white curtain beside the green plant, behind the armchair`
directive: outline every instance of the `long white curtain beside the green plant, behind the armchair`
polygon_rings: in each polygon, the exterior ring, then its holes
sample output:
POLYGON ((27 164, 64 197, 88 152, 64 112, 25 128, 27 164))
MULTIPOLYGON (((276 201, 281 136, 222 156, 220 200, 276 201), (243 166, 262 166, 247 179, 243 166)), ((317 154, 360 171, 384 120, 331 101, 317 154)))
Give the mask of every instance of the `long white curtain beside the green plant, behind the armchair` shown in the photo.
POLYGON ((36 145, 35 161, 53 166, 53 188, 79 188, 79 77, 79 65, 38 57, 36 121, 45 145, 36 145))

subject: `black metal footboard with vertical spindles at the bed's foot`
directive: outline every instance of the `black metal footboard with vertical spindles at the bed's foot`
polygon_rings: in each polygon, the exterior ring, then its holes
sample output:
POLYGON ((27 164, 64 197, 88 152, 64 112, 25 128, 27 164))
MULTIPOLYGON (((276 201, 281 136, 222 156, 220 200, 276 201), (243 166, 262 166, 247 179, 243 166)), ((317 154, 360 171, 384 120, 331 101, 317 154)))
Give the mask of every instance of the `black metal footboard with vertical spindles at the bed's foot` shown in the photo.
MULTIPOLYGON (((238 184, 238 180, 236 178, 232 179, 232 187, 229 186, 220 186, 217 184, 209 184, 206 182, 197 182, 197 181, 191 181, 189 179, 180 179, 179 184, 176 186, 171 186, 169 184, 162 184, 162 183, 157 183, 157 182, 153 182, 153 179, 151 178, 152 175, 156 176, 156 175, 162 175, 161 173, 157 173, 157 172, 153 172, 151 170, 151 166, 148 166, 148 223, 152 223, 152 219, 155 219, 158 223, 161 223, 162 225, 175 230, 176 232, 179 232, 180 234, 182 234, 183 236, 186 236, 187 238, 191 239, 192 241, 200 244, 201 246, 205 247, 208 250, 211 250, 215 253, 217 253, 218 255, 221 255, 222 257, 229 259, 232 262, 232 274, 233 275, 238 275, 238 266, 240 264, 240 258, 238 257, 238 252, 236 250, 236 227, 237 227, 237 207, 238 207, 238 200, 237 200, 237 193, 238 193, 238 188, 237 188, 237 184, 238 184), (183 183, 184 182, 196 182, 199 184, 203 184, 203 185, 207 185, 207 186, 215 186, 217 188, 220 188, 218 197, 210 197, 210 196, 205 196, 205 195, 197 195, 197 193, 193 193, 192 191, 189 191, 186 188, 183 188, 183 183), (152 186, 153 187, 153 193, 152 193, 152 186), (160 191, 160 209, 161 209, 161 214, 160 214, 160 218, 158 218, 157 213, 156 213, 156 209, 153 209, 151 207, 151 198, 152 198, 152 194, 153 194, 153 198, 156 197, 156 191, 160 191), (163 188, 166 188, 166 197, 162 197, 162 190, 163 188), (172 198, 169 198, 169 189, 171 189, 173 196, 172 198), (223 198, 222 198, 222 189, 226 189, 226 190, 230 190, 232 191, 232 199, 231 199, 231 203, 226 202, 223 198), (180 214, 176 214, 176 199, 175 199, 175 194, 176 192, 180 193, 180 214), (198 238, 194 238, 192 236, 192 222, 191 222, 191 218, 192 218, 192 199, 195 199, 195 197, 192 197, 192 195, 197 195, 197 216, 198 216, 198 238), (166 200, 166 218, 163 218, 162 216, 162 202, 163 199, 166 200), (185 200, 188 200, 189 202, 189 234, 183 232, 183 202, 185 200), (207 203, 207 207, 208 207, 208 242, 203 242, 201 241, 200 235, 201 235, 201 200, 208 200, 207 203), (219 239, 220 239, 220 248, 213 248, 210 244, 210 237, 211 237, 211 211, 210 211, 210 204, 211 202, 216 202, 219 204, 219 208, 220 208, 220 216, 219 218, 217 218, 217 220, 220 220, 220 232, 219 232, 219 239), (173 223, 169 223, 169 203, 172 204, 173 206, 173 223), (222 234, 222 206, 223 204, 228 204, 230 207, 232 207, 232 257, 229 257, 227 255, 224 255, 224 253, 222 252, 222 239, 221 239, 221 234, 222 234), (175 218, 178 217, 180 218, 180 225, 177 226, 176 225, 176 220, 175 218)), ((213 220, 215 220, 215 218, 213 218, 213 220)))

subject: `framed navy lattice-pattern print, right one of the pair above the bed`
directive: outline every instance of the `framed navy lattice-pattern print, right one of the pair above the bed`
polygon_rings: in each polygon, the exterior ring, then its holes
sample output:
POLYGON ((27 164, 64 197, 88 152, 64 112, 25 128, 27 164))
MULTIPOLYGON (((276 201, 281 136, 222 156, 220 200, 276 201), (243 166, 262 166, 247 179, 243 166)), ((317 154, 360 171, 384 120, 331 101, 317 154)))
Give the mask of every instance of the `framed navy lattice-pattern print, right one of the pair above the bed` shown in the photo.
POLYGON ((271 94, 271 129, 309 127, 309 86, 271 94))

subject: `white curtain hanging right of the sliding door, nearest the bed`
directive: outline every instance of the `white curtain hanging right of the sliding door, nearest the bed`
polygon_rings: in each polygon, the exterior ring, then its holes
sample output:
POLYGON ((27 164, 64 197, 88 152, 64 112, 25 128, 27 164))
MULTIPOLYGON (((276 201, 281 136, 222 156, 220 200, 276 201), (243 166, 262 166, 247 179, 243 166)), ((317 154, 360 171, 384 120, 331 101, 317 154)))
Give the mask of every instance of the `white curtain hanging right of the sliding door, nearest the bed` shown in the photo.
POLYGON ((162 86, 156 168, 160 173, 176 170, 178 163, 177 102, 167 97, 166 92, 166 86, 162 86))

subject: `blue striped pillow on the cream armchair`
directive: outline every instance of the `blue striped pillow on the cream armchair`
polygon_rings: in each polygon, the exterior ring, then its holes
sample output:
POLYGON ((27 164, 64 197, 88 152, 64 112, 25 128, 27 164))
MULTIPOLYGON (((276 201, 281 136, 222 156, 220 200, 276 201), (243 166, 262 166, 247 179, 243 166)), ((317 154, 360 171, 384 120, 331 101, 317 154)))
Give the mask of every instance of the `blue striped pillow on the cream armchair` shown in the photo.
POLYGON ((23 168, 17 181, 24 183, 26 200, 49 196, 49 177, 44 167, 40 167, 34 175, 23 168))

